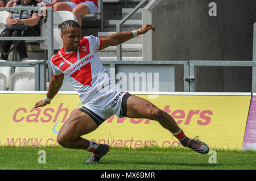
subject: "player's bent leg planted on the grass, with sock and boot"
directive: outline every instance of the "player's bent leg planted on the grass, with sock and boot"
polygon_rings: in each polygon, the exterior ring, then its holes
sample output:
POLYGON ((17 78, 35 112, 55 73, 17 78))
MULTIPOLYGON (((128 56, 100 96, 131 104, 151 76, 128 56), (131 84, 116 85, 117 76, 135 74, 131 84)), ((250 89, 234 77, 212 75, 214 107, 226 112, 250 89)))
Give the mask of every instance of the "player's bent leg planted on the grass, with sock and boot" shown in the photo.
POLYGON ((84 149, 93 152, 87 162, 99 162, 100 158, 108 153, 109 146, 97 144, 92 140, 86 140, 81 136, 97 129, 97 124, 84 112, 77 111, 61 127, 57 136, 57 142, 65 148, 84 149))

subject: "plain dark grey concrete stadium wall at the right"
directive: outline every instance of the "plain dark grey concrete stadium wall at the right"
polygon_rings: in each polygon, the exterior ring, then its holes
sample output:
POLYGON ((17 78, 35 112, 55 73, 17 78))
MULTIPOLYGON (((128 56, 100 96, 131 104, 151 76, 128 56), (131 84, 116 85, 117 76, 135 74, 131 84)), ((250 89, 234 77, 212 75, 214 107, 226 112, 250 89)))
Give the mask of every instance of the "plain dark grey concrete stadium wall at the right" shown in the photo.
MULTIPOLYGON (((152 0, 142 10, 143 60, 245 60, 253 55, 255 0, 152 0), (210 16, 216 4, 216 16, 210 16)), ((250 92, 251 68, 197 67, 195 91, 250 92)), ((175 91, 183 91, 183 69, 175 68, 175 91)))

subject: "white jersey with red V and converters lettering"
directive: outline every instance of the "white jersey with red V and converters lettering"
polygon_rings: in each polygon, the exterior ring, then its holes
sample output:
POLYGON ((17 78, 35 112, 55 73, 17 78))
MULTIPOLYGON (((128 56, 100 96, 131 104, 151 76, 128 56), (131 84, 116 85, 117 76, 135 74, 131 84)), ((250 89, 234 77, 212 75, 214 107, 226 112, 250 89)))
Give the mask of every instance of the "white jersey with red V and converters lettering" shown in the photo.
MULTIPOLYGON (((97 98, 104 95, 98 93, 101 92, 99 89, 114 81, 114 79, 110 79, 108 70, 104 68, 97 54, 101 45, 100 37, 85 36, 80 40, 80 46, 77 50, 65 52, 61 48, 51 58, 53 76, 57 77, 62 74, 67 76, 79 93, 83 104, 96 99, 95 95, 97 95, 97 98), (99 77, 99 75, 102 76, 99 77), (107 78, 106 75, 108 75, 107 78)), ((115 81, 113 83, 115 84, 115 81)))

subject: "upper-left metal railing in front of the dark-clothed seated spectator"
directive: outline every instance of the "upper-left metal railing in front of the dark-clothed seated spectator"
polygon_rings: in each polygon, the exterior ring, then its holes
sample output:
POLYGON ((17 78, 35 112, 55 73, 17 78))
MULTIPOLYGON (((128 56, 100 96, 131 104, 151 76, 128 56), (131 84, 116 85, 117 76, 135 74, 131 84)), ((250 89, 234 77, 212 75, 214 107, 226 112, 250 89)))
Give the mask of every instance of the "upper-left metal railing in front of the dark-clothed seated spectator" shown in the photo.
POLYGON ((22 37, 0 37, 1 40, 47 40, 48 54, 47 59, 51 60, 53 56, 53 7, 0 7, 0 11, 4 10, 47 10, 48 36, 22 36, 22 37))

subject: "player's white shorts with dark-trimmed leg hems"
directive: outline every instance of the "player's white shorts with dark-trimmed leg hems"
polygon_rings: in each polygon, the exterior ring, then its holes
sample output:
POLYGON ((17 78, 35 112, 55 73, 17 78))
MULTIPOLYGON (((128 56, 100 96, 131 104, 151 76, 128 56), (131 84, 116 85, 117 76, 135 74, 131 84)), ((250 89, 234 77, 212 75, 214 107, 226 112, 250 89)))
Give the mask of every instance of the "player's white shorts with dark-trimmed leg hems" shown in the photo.
POLYGON ((96 93, 91 101, 84 104, 84 107, 82 107, 80 111, 88 113, 88 115, 96 121, 96 124, 97 122, 100 124, 103 123, 103 121, 109 119, 112 115, 117 115, 118 117, 126 116, 126 112, 121 113, 122 99, 126 94, 130 96, 128 92, 122 90, 107 92, 104 95, 102 93, 96 93))

